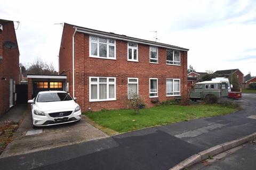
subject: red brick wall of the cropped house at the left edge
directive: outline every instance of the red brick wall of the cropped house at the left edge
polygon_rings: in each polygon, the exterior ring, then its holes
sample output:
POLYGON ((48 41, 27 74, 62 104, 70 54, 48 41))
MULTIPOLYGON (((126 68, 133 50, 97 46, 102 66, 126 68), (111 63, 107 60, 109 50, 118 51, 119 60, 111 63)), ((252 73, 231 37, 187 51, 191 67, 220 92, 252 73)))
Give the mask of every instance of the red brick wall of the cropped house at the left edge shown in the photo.
MULTIPOLYGON (((13 22, 2 23, 3 31, 0 32, 0 115, 9 109, 9 80, 12 78, 19 83, 19 49, 8 49, 3 46, 4 41, 17 43, 13 22), (2 80, 6 78, 6 80, 2 80)), ((14 103, 14 94, 13 94, 14 103)))

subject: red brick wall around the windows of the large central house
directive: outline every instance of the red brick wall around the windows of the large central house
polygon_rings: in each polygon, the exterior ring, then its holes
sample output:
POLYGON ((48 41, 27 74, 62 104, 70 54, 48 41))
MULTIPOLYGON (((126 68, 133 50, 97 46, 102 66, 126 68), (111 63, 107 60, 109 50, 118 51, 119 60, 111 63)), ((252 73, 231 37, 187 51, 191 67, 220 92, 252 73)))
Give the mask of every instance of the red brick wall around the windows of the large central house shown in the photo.
MULTIPOLYGON (((159 101, 173 98, 166 97, 166 78, 180 79, 181 95, 187 91, 187 52, 181 52, 181 66, 166 65, 166 49, 158 47, 159 64, 151 64, 149 63, 149 46, 139 44, 138 58, 139 62, 127 61, 127 41, 120 40, 116 40, 116 60, 91 58, 89 57, 89 35, 77 32, 75 36, 75 97, 82 111, 86 111, 89 107, 93 111, 102 108, 124 108, 123 98, 127 94, 127 78, 139 78, 139 94, 143 96, 147 106, 153 106, 151 99, 154 99, 149 98, 149 78, 158 78, 159 101), (116 77, 116 100, 89 102, 90 76, 116 77)), ((61 53, 60 60, 62 60, 61 53)), ((61 61, 60 64, 67 65, 65 62, 61 61)), ((60 68, 63 66, 60 65, 60 68)))

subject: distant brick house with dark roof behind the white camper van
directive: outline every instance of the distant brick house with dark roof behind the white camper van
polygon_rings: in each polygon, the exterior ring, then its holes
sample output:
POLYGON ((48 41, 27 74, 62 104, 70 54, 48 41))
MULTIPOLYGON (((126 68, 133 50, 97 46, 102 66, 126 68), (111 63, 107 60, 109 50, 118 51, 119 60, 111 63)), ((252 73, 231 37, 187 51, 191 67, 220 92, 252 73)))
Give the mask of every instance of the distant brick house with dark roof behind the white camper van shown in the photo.
POLYGON ((239 69, 217 70, 214 72, 214 74, 217 74, 218 77, 226 77, 226 78, 229 78, 231 74, 235 74, 237 76, 238 83, 241 87, 244 82, 244 74, 239 69))

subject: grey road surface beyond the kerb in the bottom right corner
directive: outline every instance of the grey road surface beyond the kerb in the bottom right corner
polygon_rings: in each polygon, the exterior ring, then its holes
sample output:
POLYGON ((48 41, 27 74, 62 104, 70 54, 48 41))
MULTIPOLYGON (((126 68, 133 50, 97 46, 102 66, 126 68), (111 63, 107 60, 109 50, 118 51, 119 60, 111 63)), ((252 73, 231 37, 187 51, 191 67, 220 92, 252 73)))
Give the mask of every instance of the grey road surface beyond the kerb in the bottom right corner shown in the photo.
POLYGON ((256 141, 236 147, 189 167, 189 170, 255 169, 256 141))

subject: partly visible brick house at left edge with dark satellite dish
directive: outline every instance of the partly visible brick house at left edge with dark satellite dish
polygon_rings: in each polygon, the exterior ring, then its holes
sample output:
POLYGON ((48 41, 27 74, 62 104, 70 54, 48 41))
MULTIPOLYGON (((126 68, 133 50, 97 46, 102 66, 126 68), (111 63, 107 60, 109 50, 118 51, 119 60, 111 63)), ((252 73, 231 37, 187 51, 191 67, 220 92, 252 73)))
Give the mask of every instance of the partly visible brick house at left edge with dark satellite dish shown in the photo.
POLYGON ((15 104, 19 70, 19 48, 13 21, 0 19, 0 115, 15 104))

